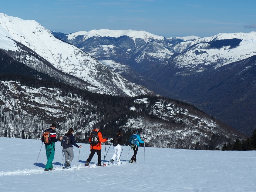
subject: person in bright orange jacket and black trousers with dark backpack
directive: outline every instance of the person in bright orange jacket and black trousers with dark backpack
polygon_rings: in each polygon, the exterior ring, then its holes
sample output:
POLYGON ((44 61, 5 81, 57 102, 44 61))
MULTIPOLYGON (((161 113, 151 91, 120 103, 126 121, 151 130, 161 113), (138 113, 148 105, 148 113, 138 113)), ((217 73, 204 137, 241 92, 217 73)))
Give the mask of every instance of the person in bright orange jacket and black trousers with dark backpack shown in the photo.
POLYGON ((90 134, 89 142, 91 143, 91 151, 88 159, 86 160, 85 166, 89 166, 95 152, 98 155, 98 166, 101 166, 101 143, 107 141, 107 138, 102 137, 101 132, 99 132, 100 126, 97 124, 95 129, 90 134), (96 135, 96 136, 95 136, 96 135))

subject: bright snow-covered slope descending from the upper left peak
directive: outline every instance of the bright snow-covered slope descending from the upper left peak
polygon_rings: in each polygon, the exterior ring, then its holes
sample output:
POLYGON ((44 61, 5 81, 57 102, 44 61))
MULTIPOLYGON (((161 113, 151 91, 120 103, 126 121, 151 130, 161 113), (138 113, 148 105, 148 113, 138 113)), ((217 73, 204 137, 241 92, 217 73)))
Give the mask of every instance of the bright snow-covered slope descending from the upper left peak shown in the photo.
MULTIPOLYGON (((52 68, 86 82, 88 85, 81 87, 83 89, 123 96, 153 94, 142 86, 130 83, 81 49, 56 39, 49 30, 33 20, 26 21, 0 13, 0 42, 0 49, 12 51, 22 50, 18 43, 25 45, 48 61, 52 68)), ((32 56, 21 57, 24 64, 38 62, 32 56)), ((36 64, 30 67, 39 71, 44 68, 36 64)))

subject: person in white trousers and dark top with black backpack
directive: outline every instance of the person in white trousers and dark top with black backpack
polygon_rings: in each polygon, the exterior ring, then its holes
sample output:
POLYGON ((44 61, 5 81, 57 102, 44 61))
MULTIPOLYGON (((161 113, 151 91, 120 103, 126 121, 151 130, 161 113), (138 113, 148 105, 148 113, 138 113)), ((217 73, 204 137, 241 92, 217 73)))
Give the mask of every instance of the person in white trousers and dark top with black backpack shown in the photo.
POLYGON ((112 140, 111 143, 113 143, 113 149, 114 149, 114 154, 112 156, 112 158, 110 159, 110 163, 114 163, 115 159, 117 159, 117 164, 120 164, 121 158, 121 145, 123 145, 123 133, 118 130, 118 132, 116 133, 116 136, 114 137, 114 139, 112 140))

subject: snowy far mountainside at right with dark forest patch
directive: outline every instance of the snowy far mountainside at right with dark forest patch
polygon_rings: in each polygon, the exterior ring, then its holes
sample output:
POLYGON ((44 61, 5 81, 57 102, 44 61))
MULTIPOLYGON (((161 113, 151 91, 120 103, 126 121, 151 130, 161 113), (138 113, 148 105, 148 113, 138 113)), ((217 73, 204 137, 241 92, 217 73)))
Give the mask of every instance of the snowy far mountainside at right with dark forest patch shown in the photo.
POLYGON ((203 72, 207 66, 217 69, 256 55, 256 32, 218 35, 180 42, 173 47, 178 56, 172 59, 183 70, 203 72))

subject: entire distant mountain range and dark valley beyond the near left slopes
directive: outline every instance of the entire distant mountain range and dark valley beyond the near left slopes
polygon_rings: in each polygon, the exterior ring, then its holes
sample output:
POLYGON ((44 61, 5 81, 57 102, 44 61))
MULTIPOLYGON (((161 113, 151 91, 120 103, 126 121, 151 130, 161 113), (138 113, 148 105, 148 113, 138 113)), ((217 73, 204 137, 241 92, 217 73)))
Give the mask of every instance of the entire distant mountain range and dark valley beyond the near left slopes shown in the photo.
POLYGON ((120 74, 133 83, 190 102, 244 133, 256 128, 256 32, 168 39, 142 31, 53 34, 114 70, 120 72, 121 64, 130 66, 136 72, 123 66, 120 74))

